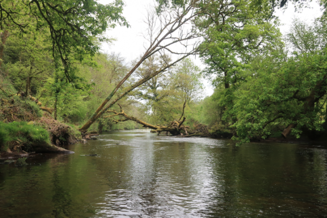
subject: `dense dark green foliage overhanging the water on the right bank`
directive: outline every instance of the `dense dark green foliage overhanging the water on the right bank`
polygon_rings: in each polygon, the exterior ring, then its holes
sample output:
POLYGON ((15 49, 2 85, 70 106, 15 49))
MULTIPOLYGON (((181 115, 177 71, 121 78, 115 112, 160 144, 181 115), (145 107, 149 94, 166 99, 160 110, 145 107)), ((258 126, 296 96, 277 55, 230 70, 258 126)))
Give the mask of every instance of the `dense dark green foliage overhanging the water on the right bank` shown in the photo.
POLYGON ((279 68, 260 67, 236 92, 239 138, 266 138, 275 126, 291 123, 297 123, 292 130, 297 138, 305 129, 322 130, 326 72, 326 51, 295 56, 279 68))

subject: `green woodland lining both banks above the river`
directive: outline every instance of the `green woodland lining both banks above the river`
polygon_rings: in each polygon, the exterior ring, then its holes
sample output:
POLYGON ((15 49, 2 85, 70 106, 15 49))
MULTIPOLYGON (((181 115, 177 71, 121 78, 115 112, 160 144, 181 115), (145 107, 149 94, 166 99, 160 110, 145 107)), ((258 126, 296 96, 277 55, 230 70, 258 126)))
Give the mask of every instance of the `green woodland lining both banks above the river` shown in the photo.
MULTIPOLYGON (((284 36, 273 12, 286 0, 156 2, 144 52, 127 62, 101 51, 114 43, 106 30, 130 27, 122 0, 0 0, 1 151, 60 152, 56 145, 136 128, 238 145, 324 138, 325 0, 321 17, 294 19, 284 36)), ((293 2, 300 10, 309 1, 293 2)))

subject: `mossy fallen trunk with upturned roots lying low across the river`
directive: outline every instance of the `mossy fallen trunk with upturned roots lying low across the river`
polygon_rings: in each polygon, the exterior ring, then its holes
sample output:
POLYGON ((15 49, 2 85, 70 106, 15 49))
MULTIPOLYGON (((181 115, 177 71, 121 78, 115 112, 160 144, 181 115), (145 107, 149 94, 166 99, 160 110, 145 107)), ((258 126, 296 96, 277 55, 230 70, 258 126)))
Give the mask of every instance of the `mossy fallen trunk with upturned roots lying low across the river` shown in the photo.
POLYGON ((145 121, 142 121, 140 119, 137 119, 136 117, 129 116, 127 115, 120 104, 118 104, 120 107, 120 112, 117 112, 115 110, 108 110, 106 113, 111 113, 111 115, 105 116, 104 118, 112 118, 112 121, 114 123, 119 123, 119 122, 125 122, 128 120, 132 120, 136 123, 139 123, 143 125, 144 128, 150 128, 153 129, 151 132, 155 132, 158 135, 162 132, 166 132, 166 134, 170 133, 173 136, 183 136, 183 137, 192 137, 192 136, 211 136, 211 134, 208 131, 208 128, 205 125, 198 124, 195 125, 193 129, 191 129, 189 126, 186 126, 184 122, 186 121, 186 117, 184 117, 184 109, 186 102, 184 103, 183 106, 183 113, 179 120, 174 120, 172 121, 168 126, 163 126, 163 125, 152 125, 149 123, 146 123, 145 121), (124 117, 122 119, 115 119, 116 117, 124 117), (183 118, 183 119, 182 119, 183 118))

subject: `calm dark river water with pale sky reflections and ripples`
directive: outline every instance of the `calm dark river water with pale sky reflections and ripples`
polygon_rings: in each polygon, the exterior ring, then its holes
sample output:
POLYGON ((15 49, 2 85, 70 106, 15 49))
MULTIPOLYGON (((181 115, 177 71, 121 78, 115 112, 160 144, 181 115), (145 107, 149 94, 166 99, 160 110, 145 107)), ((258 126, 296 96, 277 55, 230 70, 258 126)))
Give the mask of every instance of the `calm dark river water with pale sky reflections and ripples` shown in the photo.
POLYGON ((0 165, 0 218, 327 217, 321 145, 134 130, 68 149, 0 165))

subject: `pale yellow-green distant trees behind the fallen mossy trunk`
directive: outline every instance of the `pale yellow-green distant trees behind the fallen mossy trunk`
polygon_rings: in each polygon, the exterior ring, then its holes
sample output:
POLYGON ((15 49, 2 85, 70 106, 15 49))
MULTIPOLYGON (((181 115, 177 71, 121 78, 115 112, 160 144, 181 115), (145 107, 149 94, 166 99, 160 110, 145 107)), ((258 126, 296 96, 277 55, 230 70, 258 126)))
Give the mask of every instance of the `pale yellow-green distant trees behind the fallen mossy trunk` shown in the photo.
MULTIPOLYGON (((148 64, 150 60, 145 61, 135 72, 137 78, 156 70, 155 63, 148 64)), ((187 104, 187 110, 191 110, 200 101, 202 91, 199 67, 191 59, 185 58, 171 67, 169 72, 140 85, 132 96, 143 102, 149 122, 168 125, 180 116, 184 103, 187 104)))

